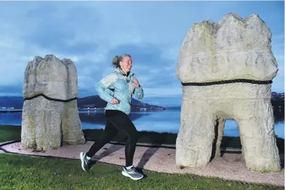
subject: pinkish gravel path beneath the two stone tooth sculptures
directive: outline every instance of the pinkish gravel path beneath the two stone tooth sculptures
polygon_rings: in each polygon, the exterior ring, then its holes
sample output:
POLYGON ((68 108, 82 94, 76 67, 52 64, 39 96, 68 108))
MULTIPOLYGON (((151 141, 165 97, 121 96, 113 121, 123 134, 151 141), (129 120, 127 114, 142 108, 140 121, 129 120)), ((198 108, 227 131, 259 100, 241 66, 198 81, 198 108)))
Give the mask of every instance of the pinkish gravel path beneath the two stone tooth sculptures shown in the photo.
MULTIPOLYGON (((79 159, 80 152, 87 152, 93 142, 88 141, 85 145, 68 145, 50 152, 31 152, 20 147, 20 142, 4 145, 2 148, 8 152, 20 154, 59 156, 64 158, 79 159)), ((284 154, 280 155, 284 158, 284 154)), ((105 145, 93 159, 106 163, 115 163, 124 166, 124 146, 105 145), (108 148, 108 149, 105 149, 108 148)), ((220 177, 226 180, 239 180, 244 182, 257 182, 263 184, 275 184, 284 186, 284 169, 280 173, 258 173, 249 171, 245 167, 242 154, 224 154, 220 158, 213 159, 207 166, 198 168, 180 169, 175 164, 175 149, 136 147, 133 161, 135 166, 147 170, 155 170, 163 173, 193 173, 196 175, 220 177)), ((80 164, 80 163, 78 163, 80 164)))

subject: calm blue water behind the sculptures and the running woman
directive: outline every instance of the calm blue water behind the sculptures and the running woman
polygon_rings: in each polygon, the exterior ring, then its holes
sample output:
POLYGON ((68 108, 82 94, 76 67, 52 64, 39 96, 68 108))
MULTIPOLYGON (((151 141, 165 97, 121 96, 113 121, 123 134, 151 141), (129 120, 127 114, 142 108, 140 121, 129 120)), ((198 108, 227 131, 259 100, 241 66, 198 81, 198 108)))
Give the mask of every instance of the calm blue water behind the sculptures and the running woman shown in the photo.
MULTIPOLYGON (((178 133, 180 110, 161 110, 154 112, 131 112, 129 115, 138 131, 178 133)), ((102 111, 80 112, 83 129, 103 129, 105 117, 102 111)), ((0 124, 21 125, 22 112, 0 113, 0 124)), ((275 119, 275 134, 284 138, 284 118, 275 119)), ((240 136, 238 126, 233 120, 226 120, 224 136, 240 136)))

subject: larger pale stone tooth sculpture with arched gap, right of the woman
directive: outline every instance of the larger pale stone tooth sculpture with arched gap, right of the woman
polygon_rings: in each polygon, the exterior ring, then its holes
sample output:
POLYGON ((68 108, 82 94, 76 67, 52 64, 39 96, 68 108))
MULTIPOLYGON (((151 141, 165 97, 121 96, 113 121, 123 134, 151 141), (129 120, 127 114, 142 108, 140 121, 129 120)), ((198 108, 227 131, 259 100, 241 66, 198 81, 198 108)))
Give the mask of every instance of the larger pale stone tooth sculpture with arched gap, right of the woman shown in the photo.
MULTIPOLYGON (((258 15, 242 19, 229 14, 219 23, 194 24, 180 49, 177 78, 181 82, 272 80, 278 68, 270 38, 270 29, 258 15)), ((279 171, 270 100, 271 85, 184 86, 176 142, 177 165, 207 165, 217 122, 215 156, 220 156, 225 119, 234 119, 239 127, 247 168, 279 171)))

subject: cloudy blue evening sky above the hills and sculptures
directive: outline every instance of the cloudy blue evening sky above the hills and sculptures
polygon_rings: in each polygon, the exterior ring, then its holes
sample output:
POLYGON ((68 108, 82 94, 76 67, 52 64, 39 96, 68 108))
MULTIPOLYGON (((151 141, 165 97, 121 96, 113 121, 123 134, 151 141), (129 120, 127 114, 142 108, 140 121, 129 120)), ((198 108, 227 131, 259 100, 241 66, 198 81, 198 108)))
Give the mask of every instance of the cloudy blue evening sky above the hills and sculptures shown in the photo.
POLYGON ((143 102, 181 105, 175 67, 189 27, 228 13, 268 24, 279 64, 272 91, 284 92, 284 1, 0 1, 0 96, 22 96, 28 61, 45 54, 75 61, 80 96, 94 95, 112 58, 126 52, 143 102))

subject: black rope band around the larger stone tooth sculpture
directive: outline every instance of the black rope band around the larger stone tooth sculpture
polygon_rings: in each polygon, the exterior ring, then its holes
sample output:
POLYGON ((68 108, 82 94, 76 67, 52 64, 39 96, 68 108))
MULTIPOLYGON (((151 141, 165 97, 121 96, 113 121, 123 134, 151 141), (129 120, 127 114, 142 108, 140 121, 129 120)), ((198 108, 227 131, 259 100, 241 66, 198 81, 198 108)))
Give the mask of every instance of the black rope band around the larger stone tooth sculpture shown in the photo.
POLYGON ((256 85, 272 84, 272 80, 248 80, 248 79, 235 79, 235 80, 221 80, 217 82, 181 82, 182 86, 210 86, 210 85, 224 85, 235 82, 251 83, 256 85))

